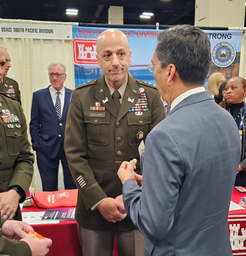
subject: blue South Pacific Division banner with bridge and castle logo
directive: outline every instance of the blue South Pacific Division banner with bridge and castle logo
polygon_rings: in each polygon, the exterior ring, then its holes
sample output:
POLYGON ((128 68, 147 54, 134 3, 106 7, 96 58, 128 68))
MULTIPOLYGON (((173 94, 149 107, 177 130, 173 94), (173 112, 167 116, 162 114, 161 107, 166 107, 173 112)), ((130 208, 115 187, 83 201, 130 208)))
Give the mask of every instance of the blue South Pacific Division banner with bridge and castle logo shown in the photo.
MULTIPOLYGON (((108 28, 72 27, 75 87, 102 76, 96 60, 96 39, 108 28)), ((127 37, 132 50, 129 72, 135 79, 156 84, 148 70, 161 30, 119 28, 127 37)), ((211 43, 212 63, 209 75, 221 72, 230 78, 239 75, 243 31, 204 30, 211 43)), ((204 86, 206 87, 208 77, 204 86)))

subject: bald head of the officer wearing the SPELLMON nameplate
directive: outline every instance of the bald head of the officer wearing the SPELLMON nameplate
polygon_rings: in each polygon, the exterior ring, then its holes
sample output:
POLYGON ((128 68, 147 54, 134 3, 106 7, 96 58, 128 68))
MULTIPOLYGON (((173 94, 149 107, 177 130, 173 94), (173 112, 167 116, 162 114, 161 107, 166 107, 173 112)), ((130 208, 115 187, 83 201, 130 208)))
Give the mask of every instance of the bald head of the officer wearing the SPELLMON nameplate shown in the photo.
POLYGON ((96 58, 108 84, 118 90, 127 79, 131 63, 131 50, 125 34, 117 29, 102 32, 96 42, 96 58))

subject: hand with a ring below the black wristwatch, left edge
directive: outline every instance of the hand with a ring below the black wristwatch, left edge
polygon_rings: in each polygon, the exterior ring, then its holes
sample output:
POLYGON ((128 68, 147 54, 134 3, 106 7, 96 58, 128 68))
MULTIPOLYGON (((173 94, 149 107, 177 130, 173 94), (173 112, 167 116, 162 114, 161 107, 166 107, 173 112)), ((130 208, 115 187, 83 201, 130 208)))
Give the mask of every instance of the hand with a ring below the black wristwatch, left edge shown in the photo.
POLYGON ((13 189, 0 193, 1 217, 4 219, 13 219, 20 199, 21 196, 13 189), (5 213, 8 213, 10 216, 4 215, 5 213))

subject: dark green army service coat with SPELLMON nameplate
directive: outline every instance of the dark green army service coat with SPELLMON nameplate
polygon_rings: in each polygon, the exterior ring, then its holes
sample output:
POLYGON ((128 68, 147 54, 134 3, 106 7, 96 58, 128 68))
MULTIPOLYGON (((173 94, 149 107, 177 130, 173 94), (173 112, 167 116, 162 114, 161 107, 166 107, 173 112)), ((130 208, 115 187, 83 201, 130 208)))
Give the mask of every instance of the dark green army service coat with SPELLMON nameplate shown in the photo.
POLYGON ((119 113, 105 77, 73 91, 65 131, 65 152, 79 189, 76 220, 87 229, 124 231, 135 229, 130 218, 108 222, 91 207, 106 197, 122 194, 117 171, 123 161, 138 160, 138 146, 150 130, 165 118, 157 87, 128 76, 119 113), (141 100, 142 99, 142 100, 141 100))

